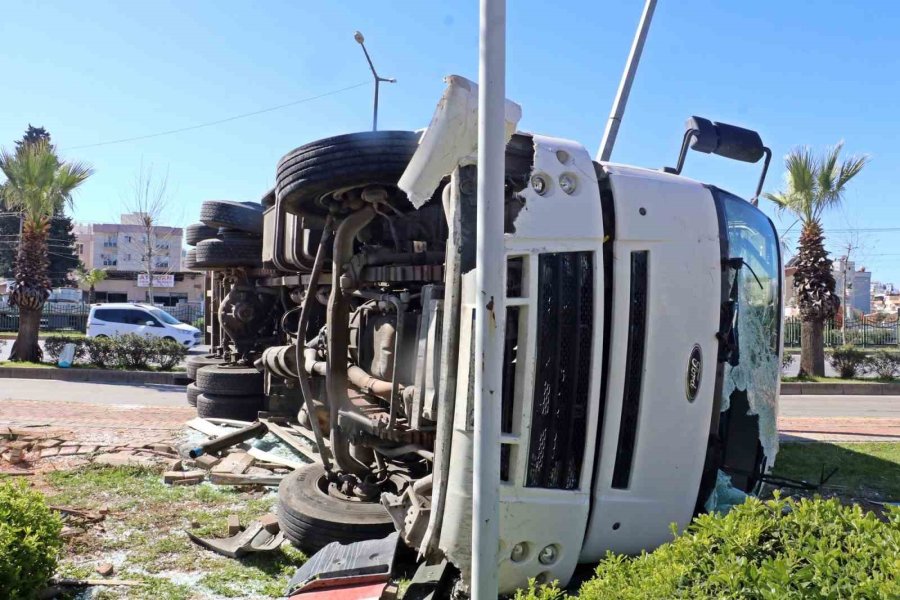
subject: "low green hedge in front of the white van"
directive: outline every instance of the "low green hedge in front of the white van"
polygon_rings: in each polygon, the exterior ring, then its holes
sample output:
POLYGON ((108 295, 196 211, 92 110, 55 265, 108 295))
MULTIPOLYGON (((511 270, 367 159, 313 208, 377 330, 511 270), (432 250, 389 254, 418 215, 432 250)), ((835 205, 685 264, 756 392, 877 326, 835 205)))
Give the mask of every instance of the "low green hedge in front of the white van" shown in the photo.
POLYGON ((44 338, 44 352, 52 362, 59 361, 66 344, 75 344, 75 360, 101 369, 143 371, 155 366, 171 371, 187 356, 187 348, 172 340, 133 333, 111 338, 51 335, 44 338))

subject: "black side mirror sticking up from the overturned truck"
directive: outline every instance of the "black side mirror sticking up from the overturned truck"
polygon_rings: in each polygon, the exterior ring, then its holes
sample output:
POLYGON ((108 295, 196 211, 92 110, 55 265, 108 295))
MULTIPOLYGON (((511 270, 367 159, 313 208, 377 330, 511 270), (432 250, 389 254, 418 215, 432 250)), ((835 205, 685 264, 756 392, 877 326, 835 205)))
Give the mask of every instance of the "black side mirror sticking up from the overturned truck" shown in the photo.
POLYGON ((751 199, 751 203, 756 205, 766 180, 769 162, 772 160, 772 151, 763 145, 762 138, 757 132, 737 125, 718 123, 693 116, 685 123, 678 164, 675 168, 665 167, 663 170, 666 173, 681 174, 688 148, 704 154, 718 154, 725 158, 749 163, 759 162, 759 159, 765 156, 766 160, 756 186, 756 194, 751 199))

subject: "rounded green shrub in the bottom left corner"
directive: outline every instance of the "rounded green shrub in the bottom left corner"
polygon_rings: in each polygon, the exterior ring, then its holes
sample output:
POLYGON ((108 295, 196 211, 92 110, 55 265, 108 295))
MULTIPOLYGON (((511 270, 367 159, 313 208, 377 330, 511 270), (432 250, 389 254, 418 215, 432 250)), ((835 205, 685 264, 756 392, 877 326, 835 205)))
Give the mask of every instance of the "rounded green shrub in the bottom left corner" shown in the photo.
POLYGON ((34 598, 56 570, 62 522, 24 483, 0 481, 0 598, 34 598))

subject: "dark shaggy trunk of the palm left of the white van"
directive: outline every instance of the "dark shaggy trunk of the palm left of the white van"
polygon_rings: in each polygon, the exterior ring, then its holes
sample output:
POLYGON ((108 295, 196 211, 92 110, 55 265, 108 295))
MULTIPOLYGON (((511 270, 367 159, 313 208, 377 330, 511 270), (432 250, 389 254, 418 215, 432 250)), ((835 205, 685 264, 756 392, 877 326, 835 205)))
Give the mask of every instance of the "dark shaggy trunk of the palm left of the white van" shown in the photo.
POLYGON ((16 283, 10 293, 9 303, 19 309, 19 332, 10 352, 16 361, 41 360, 43 353, 38 344, 41 328, 41 311, 50 297, 50 279, 47 277, 47 229, 49 222, 26 221, 22 228, 22 241, 16 254, 16 283))

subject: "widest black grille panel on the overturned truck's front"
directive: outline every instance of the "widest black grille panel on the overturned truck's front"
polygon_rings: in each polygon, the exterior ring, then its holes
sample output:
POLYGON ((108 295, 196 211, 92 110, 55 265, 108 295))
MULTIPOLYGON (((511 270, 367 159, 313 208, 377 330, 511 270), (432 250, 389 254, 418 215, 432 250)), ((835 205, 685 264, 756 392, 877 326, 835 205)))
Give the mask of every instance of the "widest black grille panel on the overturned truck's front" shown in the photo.
POLYGON ((592 252, 541 254, 527 487, 575 489, 584 460, 594 322, 592 252))

